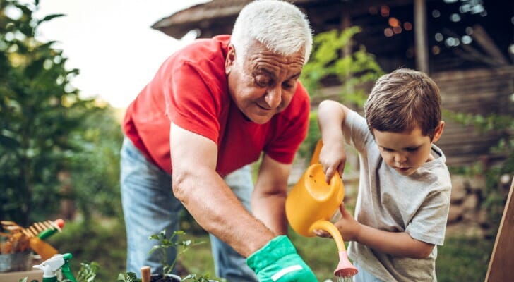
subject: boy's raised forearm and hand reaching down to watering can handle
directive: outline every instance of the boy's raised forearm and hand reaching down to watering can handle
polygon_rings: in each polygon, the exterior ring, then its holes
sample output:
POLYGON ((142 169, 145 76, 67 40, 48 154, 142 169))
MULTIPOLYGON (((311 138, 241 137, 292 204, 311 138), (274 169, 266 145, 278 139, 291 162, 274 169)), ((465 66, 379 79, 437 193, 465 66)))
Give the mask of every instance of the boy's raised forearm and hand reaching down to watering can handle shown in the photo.
POLYGON ((345 168, 345 137, 342 128, 348 111, 345 105, 331 100, 322 101, 318 106, 318 125, 323 140, 319 161, 323 165, 327 183, 334 173, 342 176, 345 168))

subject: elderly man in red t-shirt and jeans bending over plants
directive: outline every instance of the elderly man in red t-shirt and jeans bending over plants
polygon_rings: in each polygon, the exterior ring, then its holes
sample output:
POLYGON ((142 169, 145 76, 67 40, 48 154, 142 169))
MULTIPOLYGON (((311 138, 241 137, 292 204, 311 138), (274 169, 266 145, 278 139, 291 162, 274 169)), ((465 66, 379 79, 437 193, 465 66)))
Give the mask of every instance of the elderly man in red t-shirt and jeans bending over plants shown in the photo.
POLYGON ((210 233, 217 276, 316 281, 285 235, 287 178, 309 124, 299 77, 311 45, 296 6, 253 1, 232 35, 198 39, 162 64, 123 124, 128 271, 162 267, 148 236, 177 230, 184 206, 210 233), (261 155, 253 185, 249 164, 261 155))

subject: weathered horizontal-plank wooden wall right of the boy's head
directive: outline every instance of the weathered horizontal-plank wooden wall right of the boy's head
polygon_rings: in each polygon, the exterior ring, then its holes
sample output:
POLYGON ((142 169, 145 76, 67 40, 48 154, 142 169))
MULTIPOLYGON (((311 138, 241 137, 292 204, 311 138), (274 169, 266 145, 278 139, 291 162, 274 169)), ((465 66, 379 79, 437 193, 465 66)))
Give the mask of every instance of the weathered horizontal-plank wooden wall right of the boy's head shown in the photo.
MULTIPOLYGON (((512 114, 514 67, 446 71, 431 75, 440 90, 443 109, 481 114, 512 114)), ((498 143, 498 134, 480 134, 443 115, 445 130, 437 145, 443 149, 449 165, 490 161, 489 148, 498 143)))

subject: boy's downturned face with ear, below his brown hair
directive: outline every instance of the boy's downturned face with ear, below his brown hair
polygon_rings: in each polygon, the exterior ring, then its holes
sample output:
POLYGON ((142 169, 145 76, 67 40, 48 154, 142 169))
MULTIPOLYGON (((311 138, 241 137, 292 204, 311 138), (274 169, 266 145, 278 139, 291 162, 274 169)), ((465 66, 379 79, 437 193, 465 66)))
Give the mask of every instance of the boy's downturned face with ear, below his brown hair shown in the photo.
POLYGON ((410 176, 419 166, 433 159, 431 145, 441 137, 443 127, 444 122, 441 121, 434 132, 433 140, 430 140, 427 135, 422 135, 419 126, 412 131, 407 130, 402 133, 373 129, 373 135, 386 164, 402 176, 410 176))

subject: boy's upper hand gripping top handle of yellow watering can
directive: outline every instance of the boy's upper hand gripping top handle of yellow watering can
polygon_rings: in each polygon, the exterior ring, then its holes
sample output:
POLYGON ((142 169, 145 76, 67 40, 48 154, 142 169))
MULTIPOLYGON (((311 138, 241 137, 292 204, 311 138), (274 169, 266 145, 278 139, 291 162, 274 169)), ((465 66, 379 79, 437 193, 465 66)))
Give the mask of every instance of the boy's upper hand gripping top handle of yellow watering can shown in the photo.
POLYGON ((319 162, 323 165, 325 180, 330 183, 330 179, 337 173, 340 177, 345 170, 346 149, 344 142, 330 142, 323 144, 321 148, 319 162))

